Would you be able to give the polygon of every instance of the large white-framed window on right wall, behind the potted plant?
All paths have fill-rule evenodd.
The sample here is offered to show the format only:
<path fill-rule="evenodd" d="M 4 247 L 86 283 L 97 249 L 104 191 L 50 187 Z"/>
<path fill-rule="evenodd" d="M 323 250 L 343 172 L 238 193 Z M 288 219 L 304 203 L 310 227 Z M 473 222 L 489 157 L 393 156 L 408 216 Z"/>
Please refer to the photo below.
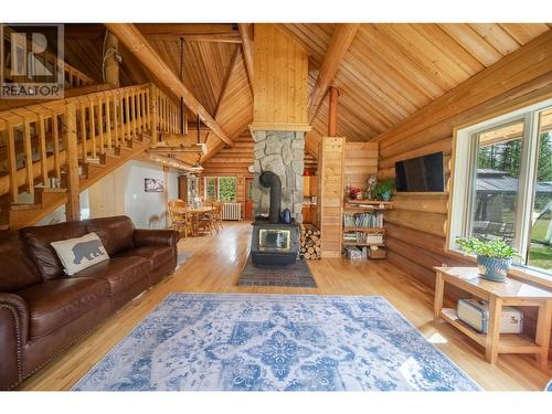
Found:
<path fill-rule="evenodd" d="M 460 129 L 453 179 L 449 248 L 501 238 L 552 274 L 552 100 Z"/>

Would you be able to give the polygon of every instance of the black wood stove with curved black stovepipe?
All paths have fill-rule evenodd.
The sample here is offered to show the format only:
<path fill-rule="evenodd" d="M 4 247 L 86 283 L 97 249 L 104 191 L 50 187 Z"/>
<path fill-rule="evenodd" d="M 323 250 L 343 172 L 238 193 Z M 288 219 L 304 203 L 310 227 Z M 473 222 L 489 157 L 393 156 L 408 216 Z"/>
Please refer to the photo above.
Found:
<path fill-rule="evenodd" d="M 280 219 L 282 182 L 272 171 L 259 177 L 263 187 L 270 189 L 267 219 L 257 216 L 253 223 L 251 256 L 255 266 L 288 266 L 299 254 L 299 224 L 283 223 Z"/>

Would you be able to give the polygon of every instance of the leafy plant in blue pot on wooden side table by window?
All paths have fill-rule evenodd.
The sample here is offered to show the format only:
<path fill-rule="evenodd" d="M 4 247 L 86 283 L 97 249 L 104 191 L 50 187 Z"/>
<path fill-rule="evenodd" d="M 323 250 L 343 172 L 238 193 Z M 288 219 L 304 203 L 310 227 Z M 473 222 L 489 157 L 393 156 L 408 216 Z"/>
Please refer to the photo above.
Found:
<path fill-rule="evenodd" d="M 459 238 L 456 244 L 466 254 L 477 255 L 477 267 L 481 277 L 492 282 L 506 282 L 516 250 L 503 240 L 480 241 L 475 237 Z"/>

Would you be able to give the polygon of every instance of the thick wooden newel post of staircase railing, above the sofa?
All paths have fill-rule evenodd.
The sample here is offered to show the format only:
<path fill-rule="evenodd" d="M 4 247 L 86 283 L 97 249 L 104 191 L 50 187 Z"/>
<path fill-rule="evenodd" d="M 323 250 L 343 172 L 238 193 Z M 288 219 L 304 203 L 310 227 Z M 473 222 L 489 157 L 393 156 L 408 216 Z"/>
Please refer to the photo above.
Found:
<path fill-rule="evenodd" d="M 65 163 L 67 171 L 67 204 L 65 215 L 68 220 L 79 220 L 79 187 L 78 187 L 78 145 L 76 141 L 76 108 L 74 104 L 65 107 L 63 148 L 65 149 Z"/>

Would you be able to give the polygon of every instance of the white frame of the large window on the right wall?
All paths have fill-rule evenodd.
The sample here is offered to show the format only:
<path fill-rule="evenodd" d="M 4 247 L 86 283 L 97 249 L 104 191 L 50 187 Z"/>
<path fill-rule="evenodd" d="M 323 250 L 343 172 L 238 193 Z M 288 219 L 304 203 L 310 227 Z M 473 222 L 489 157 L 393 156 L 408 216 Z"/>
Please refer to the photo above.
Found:
<path fill-rule="evenodd" d="M 508 114 L 459 128 L 455 131 L 453 142 L 452 193 L 449 208 L 449 227 L 446 248 L 459 253 L 456 245 L 458 237 L 466 237 L 473 231 L 475 208 L 474 188 L 477 179 L 478 136 L 510 124 L 523 121 L 519 192 L 517 195 L 514 247 L 526 257 L 531 238 L 531 214 L 535 197 L 537 167 L 539 157 L 540 115 L 552 107 L 552 99 L 516 109 Z M 552 272 L 524 263 L 514 263 L 514 268 L 537 274 L 552 280 Z"/>

